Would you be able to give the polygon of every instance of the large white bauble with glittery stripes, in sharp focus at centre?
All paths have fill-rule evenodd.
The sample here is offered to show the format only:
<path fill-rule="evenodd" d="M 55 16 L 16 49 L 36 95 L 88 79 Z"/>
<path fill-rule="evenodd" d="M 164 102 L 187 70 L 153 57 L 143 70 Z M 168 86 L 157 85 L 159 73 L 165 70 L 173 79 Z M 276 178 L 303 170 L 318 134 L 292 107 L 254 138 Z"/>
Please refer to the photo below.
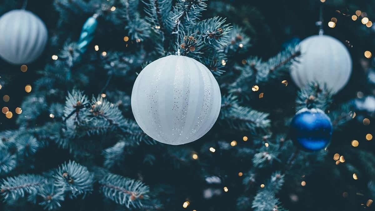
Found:
<path fill-rule="evenodd" d="M 170 55 L 147 65 L 135 80 L 132 110 L 158 142 L 180 145 L 206 134 L 219 116 L 219 84 L 202 63 Z"/>

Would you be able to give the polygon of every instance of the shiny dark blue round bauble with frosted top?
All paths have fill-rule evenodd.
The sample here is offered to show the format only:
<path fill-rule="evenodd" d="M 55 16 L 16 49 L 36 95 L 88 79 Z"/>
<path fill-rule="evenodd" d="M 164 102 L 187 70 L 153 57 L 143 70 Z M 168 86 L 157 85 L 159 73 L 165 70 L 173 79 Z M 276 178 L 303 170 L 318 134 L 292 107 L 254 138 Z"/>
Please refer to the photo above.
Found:
<path fill-rule="evenodd" d="M 332 137 L 331 120 L 320 109 L 301 109 L 290 123 L 290 137 L 305 151 L 324 149 Z"/>

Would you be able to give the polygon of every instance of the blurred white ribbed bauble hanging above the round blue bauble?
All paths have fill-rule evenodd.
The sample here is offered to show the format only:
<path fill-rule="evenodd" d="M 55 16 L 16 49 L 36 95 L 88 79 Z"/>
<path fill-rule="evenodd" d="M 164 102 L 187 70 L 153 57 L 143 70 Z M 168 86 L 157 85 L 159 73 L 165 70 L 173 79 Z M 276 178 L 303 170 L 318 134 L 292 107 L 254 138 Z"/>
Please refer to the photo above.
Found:
<path fill-rule="evenodd" d="M 345 45 L 336 38 L 309 36 L 300 42 L 300 50 L 299 62 L 291 67 L 291 77 L 298 87 L 317 81 L 336 93 L 348 83 L 352 60 Z"/>

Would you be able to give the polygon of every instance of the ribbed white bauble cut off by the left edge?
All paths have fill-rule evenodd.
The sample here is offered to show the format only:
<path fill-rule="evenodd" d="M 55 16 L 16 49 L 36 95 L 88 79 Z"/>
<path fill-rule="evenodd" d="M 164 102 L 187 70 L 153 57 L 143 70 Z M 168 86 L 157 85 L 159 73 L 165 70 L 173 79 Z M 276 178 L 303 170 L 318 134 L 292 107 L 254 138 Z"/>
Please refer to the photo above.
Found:
<path fill-rule="evenodd" d="M 0 56 L 12 64 L 33 62 L 43 52 L 47 29 L 39 17 L 24 9 L 0 17 Z"/>

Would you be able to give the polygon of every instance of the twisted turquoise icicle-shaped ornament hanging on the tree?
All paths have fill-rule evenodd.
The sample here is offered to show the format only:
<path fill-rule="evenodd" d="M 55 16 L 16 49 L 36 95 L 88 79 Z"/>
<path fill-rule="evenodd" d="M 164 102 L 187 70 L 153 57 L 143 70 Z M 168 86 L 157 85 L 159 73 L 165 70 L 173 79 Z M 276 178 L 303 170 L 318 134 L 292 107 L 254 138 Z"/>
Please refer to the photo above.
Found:
<path fill-rule="evenodd" d="M 86 20 L 83 24 L 80 40 L 78 40 L 78 48 L 84 53 L 87 50 L 87 45 L 93 40 L 94 33 L 96 30 L 96 26 L 98 25 L 98 21 L 96 18 L 98 17 L 97 14 L 94 14 L 92 17 Z"/>

